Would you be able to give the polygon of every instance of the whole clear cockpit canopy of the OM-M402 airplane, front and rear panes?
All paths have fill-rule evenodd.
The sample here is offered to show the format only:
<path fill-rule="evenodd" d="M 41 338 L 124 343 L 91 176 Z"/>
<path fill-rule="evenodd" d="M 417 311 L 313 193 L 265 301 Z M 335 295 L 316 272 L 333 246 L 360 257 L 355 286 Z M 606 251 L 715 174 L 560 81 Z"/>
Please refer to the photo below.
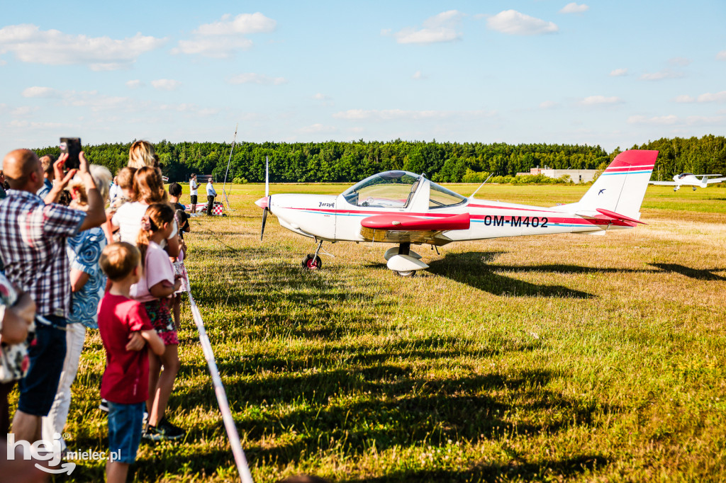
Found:
<path fill-rule="evenodd" d="M 425 182 L 423 176 L 408 171 L 386 171 L 378 173 L 343 191 L 343 197 L 351 205 L 359 207 L 405 208 L 417 189 Z M 449 189 L 431 183 L 429 208 L 460 205 L 465 197 Z"/>

